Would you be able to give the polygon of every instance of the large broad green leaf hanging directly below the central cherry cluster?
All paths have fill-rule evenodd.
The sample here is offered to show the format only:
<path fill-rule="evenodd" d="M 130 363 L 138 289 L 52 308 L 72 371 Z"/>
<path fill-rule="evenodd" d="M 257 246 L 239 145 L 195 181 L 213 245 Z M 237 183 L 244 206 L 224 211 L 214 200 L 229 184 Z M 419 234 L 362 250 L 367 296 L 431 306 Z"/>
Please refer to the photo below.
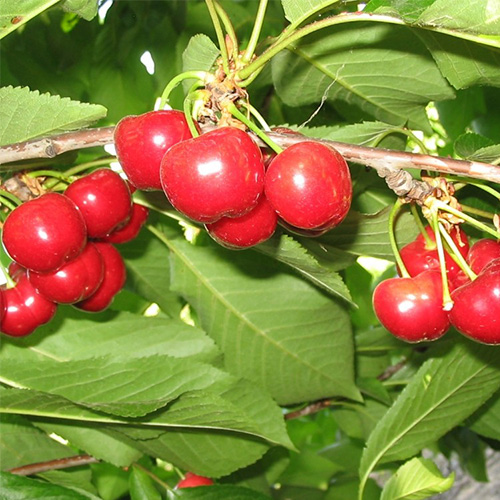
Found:
<path fill-rule="evenodd" d="M 359 397 L 350 327 L 339 305 L 253 252 L 165 242 L 172 288 L 196 309 L 229 372 L 266 388 L 281 404 Z"/>

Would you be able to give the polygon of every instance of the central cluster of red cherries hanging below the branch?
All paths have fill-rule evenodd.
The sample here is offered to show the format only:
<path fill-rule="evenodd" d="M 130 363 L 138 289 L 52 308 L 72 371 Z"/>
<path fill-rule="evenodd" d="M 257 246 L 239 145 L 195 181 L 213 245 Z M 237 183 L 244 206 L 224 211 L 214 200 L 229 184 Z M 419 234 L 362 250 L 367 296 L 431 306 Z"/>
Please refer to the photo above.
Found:
<path fill-rule="evenodd" d="M 247 133 L 222 127 L 193 138 L 184 114 L 175 110 L 126 117 L 114 140 L 135 187 L 162 189 L 174 208 L 229 248 L 265 241 L 278 222 L 322 234 L 350 208 L 347 163 L 324 144 L 295 144 L 265 165 Z"/>

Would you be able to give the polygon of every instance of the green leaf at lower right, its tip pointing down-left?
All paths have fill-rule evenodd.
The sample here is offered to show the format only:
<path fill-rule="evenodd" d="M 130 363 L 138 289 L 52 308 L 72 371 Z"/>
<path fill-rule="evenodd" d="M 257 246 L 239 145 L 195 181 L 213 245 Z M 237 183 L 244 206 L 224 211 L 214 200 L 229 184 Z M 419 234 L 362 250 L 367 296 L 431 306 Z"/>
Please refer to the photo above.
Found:
<path fill-rule="evenodd" d="M 500 387 L 500 360 L 491 347 L 460 339 L 437 354 L 422 365 L 370 435 L 360 466 L 362 484 L 377 464 L 411 457 Z"/>

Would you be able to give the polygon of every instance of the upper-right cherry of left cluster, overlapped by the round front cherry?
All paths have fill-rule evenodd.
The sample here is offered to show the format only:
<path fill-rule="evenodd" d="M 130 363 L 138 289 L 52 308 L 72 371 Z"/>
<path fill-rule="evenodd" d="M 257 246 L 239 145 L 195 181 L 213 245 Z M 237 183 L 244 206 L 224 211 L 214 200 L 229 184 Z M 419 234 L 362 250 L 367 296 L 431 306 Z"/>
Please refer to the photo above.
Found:
<path fill-rule="evenodd" d="M 89 238 L 107 236 L 124 225 L 131 214 L 127 183 L 109 168 L 100 168 L 74 181 L 64 194 L 80 209 Z"/>

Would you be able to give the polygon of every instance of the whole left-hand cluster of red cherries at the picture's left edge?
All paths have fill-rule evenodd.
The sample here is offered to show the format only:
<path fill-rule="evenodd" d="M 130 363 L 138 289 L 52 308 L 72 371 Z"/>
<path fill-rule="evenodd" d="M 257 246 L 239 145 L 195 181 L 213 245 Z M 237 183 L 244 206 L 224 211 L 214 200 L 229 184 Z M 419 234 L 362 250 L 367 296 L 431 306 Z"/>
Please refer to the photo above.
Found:
<path fill-rule="evenodd" d="M 126 278 L 114 244 L 135 238 L 147 216 L 108 168 L 80 177 L 64 194 L 47 192 L 14 209 L 2 232 L 13 283 L 0 287 L 0 331 L 28 335 L 58 304 L 106 309 Z"/>

